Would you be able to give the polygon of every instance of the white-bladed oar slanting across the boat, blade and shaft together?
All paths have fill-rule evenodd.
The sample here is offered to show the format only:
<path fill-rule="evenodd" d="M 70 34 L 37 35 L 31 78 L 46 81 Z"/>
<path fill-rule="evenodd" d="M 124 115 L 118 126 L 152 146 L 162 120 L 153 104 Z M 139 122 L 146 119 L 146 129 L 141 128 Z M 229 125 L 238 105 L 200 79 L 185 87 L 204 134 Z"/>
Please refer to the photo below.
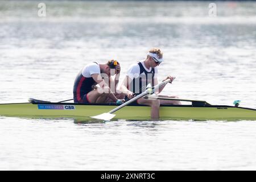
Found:
<path fill-rule="evenodd" d="M 146 89 L 144 92 L 142 92 L 138 96 L 136 96 L 136 97 L 132 98 L 131 100 L 123 103 L 122 105 L 119 105 L 118 107 L 115 107 L 115 109 L 110 110 L 108 113 L 103 113 L 103 114 L 95 115 L 95 116 L 93 116 L 91 118 L 101 119 L 101 120 L 104 120 L 104 121 L 109 121 L 110 119 L 115 117 L 115 114 L 112 114 L 115 111 L 117 111 L 119 109 L 122 109 L 122 107 L 125 107 L 126 105 L 130 104 L 131 102 L 136 101 L 139 98 L 146 96 L 147 94 L 153 94 L 156 89 L 158 89 L 160 86 L 168 84 L 168 82 L 171 82 L 171 80 L 167 79 L 167 80 L 161 82 L 160 84 L 158 84 L 158 85 L 156 85 L 156 86 L 154 86 L 152 88 Z"/>

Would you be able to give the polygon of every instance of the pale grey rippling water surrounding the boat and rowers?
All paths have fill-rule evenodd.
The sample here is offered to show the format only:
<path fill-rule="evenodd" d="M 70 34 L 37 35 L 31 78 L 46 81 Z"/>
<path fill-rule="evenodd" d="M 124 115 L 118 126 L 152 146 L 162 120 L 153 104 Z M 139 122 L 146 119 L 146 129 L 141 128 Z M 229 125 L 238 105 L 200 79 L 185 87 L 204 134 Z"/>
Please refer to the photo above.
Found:
<path fill-rule="evenodd" d="M 256 2 L 0 1 L 1 103 L 72 98 L 90 61 L 131 63 L 159 47 L 163 93 L 256 108 Z M 255 121 L 0 117 L 1 170 L 256 169 Z"/>

